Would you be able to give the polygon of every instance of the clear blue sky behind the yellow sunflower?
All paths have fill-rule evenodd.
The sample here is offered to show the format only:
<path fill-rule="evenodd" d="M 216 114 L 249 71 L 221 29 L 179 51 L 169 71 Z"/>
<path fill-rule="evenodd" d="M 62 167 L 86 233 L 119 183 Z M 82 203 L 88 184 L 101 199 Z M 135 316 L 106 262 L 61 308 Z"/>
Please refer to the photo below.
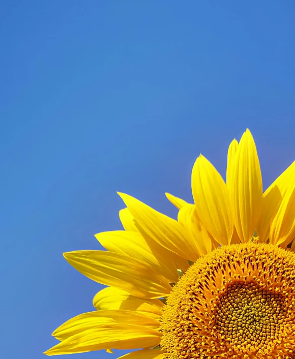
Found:
<path fill-rule="evenodd" d="M 247 127 L 264 189 L 295 159 L 295 3 L 27 0 L 0 17 L 0 356 L 40 359 L 93 310 L 102 286 L 62 253 L 122 228 L 116 191 L 175 217 L 164 192 L 192 200 L 200 152 L 224 176 Z"/>

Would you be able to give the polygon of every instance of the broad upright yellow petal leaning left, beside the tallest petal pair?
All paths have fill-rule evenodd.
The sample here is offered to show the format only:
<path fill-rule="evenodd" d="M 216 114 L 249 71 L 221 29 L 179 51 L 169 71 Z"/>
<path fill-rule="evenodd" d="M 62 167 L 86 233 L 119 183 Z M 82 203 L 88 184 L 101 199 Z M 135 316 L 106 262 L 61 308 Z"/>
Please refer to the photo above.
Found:
<path fill-rule="evenodd" d="M 221 245 L 230 243 L 233 222 L 228 189 L 214 166 L 199 156 L 192 170 L 192 192 L 197 214 Z"/>

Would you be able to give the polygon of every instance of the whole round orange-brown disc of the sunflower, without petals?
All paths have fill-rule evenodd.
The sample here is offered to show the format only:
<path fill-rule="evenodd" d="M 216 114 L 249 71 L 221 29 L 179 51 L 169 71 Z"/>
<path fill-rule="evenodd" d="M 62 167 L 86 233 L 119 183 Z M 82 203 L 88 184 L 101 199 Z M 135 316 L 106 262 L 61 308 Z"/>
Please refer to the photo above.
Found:
<path fill-rule="evenodd" d="M 192 265 L 163 310 L 167 359 L 295 358 L 295 254 L 224 246 Z"/>

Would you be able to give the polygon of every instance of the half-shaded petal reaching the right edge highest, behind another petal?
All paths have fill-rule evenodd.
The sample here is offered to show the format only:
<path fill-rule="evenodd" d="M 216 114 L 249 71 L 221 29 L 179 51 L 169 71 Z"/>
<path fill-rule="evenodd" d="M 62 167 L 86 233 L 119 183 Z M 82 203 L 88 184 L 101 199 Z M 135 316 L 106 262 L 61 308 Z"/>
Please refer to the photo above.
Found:
<path fill-rule="evenodd" d="M 295 161 L 263 193 L 261 213 L 257 223 L 259 242 L 263 243 L 268 240 L 271 221 L 278 212 L 286 191 L 294 183 L 294 178 Z"/>

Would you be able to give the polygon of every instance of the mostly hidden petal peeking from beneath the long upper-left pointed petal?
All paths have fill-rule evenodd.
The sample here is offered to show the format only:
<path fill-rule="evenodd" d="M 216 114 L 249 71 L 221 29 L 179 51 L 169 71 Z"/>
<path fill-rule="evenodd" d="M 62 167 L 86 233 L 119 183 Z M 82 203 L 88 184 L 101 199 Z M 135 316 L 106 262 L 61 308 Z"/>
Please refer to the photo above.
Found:
<path fill-rule="evenodd" d="M 141 235 L 146 238 L 146 241 L 148 243 L 151 243 L 151 241 L 153 243 L 155 243 L 156 241 L 149 235 L 147 235 L 147 233 L 145 233 L 144 229 L 140 227 L 140 225 L 135 221 L 134 217 L 132 216 L 132 214 L 130 213 L 130 211 L 128 210 L 128 208 L 124 208 L 124 210 L 120 211 L 120 219 L 121 222 L 123 224 L 123 227 L 125 228 L 125 230 L 131 230 L 131 231 L 137 231 L 139 233 L 141 233 Z M 158 243 L 158 242 L 156 242 Z M 163 256 L 165 256 L 165 258 L 169 258 L 169 261 L 172 261 L 175 265 L 175 267 L 177 269 L 186 271 L 189 267 L 188 265 L 188 261 L 182 257 L 180 257 L 178 254 L 171 252 L 169 249 L 161 246 L 159 243 L 158 245 L 161 247 L 161 253 Z M 154 245 L 155 246 L 155 245 Z M 172 268 L 172 267 L 171 267 Z"/>

